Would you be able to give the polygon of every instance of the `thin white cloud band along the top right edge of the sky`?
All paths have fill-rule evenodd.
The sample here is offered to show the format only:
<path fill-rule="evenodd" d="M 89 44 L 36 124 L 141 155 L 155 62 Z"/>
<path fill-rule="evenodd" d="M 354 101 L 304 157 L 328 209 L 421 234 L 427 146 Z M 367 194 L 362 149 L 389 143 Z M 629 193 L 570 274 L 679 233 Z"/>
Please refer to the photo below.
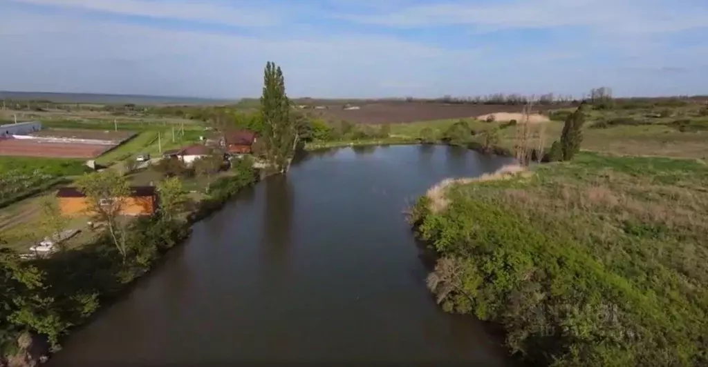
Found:
<path fill-rule="evenodd" d="M 457 1 L 403 6 L 392 11 L 340 14 L 359 23 L 392 27 L 470 25 L 480 30 L 587 26 L 595 30 L 669 32 L 705 27 L 708 7 L 677 0 Z"/>

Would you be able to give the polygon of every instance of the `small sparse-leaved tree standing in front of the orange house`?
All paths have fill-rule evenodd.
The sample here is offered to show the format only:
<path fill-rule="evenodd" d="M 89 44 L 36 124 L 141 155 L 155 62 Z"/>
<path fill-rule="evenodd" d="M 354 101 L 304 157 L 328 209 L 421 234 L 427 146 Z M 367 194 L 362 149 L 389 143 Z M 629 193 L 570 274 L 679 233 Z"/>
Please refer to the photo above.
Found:
<path fill-rule="evenodd" d="M 130 195 L 127 179 L 113 169 L 106 169 L 103 172 L 84 174 L 76 180 L 76 186 L 86 196 L 86 214 L 108 225 L 110 237 L 125 263 L 125 221 L 119 219 L 126 198 Z"/>

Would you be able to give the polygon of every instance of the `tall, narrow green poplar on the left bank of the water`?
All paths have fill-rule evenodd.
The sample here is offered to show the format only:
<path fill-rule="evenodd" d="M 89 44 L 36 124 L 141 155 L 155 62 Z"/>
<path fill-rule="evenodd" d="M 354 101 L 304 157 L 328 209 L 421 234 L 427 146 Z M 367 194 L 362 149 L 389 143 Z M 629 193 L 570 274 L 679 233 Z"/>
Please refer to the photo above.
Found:
<path fill-rule="evenodd" d="M 282 70 L 270 61 L 265 64 L 261 114 L 265 159 L 276 171 L 283 173 L 295 153 L 297 129 L 290 117 L 290 100 L 285 95 Z"/>

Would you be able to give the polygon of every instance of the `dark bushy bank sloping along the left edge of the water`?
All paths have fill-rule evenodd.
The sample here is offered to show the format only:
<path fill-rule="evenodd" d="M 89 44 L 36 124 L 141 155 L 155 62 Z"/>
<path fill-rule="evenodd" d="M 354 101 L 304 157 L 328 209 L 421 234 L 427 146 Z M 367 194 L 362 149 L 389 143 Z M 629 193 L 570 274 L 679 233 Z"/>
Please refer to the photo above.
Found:
<path fill-rule="evenodd" d="M 0 248 L 4 289 L 0 295 L 0 362 L 7 356 L 24 355 L 18 336 L 25 332 L 46 337 L 57 349 L 72 328 L 91 320 L 99 308 L 120 298 L 158 265 L 170 248 L 188 236 L 188 224 L 219 209 L 256 179 L 251 162 L 239 161 L 210 184 L 208 194 L 187 203 L 183 212 L 158 212 L 132 220 L 125 232 L 125 256 L 107 230 L 95 231 L 90 243 L 47 258 L 22 261 L 16 252 Z"/>

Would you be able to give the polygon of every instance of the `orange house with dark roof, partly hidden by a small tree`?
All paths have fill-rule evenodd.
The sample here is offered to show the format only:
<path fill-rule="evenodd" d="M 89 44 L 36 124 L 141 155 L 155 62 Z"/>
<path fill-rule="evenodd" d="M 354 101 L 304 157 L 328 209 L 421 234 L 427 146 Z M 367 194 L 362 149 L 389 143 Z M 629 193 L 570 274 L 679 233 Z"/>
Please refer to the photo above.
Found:
<path fill-rule="evenodd" d="M 116 198 L 105 198 L 103 202 L 108 205 Z M 67 217 L 86 215 L 89 202 L 86 195 L 75 187 L 62 187 L 57 191 L 59 210 Z M 121 198 L 123 201 L 120 215 L 153 215 L 157 210 L 157 191 L 154 186 L 131 186 L 130 195 Z"/>

